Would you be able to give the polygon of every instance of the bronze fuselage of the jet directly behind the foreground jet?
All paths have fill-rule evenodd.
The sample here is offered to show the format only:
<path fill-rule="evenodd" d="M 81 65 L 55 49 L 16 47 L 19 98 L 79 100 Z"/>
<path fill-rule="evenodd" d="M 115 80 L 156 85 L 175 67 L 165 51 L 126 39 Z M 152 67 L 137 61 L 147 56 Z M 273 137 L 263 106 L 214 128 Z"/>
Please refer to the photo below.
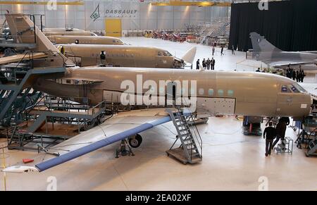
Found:
<path fill-rule="evenodd" d="M 97 66 L 101 62 L 114 67 L 183 68 L 184 66 L 180 59 L 163 49 L 154 47 L 62 44 L 58 49 L 81 67 Z M 104 61 L 100 58 L 101 51 L 105 52 Z"/>

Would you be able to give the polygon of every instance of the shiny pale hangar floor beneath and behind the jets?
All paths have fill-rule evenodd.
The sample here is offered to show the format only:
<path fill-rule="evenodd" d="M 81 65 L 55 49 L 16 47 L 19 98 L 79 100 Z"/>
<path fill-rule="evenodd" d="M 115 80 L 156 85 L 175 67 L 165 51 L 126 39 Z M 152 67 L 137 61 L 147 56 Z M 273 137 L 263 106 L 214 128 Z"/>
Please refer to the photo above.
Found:
<path fill-rule="evenodd" d="M 193 46 L 160 39 L 124 40 L 133 45 L 159 46 L 176 56 Z M 208 58 L 211 53 L 208 46 L 199 45 L 197 49 L 197 58 Z M 244 61 L 242 52 L 232 56 L 227 51 L 225 56 L 218 53 L 215 58 L 216 70 L 254 70 L 250 65 L 258 63 L 237 66 L 237 62 Z M 307 158 L 296 144 L 292 155 L 266 157 L 265 140 L 244 136 L 241 127 L 242 122 L 232 116 L 213 117 L 208 124 L 198 125 L 204 159 L 196 165 L 185 166 L 166 156 L 176 132 L 172 123 L 166 123 L 142 133 L 143 143 L 135 149 L 136 156 L 116 159 L 118 144 L 113 144 L 43 173 L 7 173 L 6 190 L 46 190 L 51 185 L 50 177 L 56 178 L 57 190 L 259 190 L 263 177 L 268 190 L 317 190 L 316 157 Z M 294 141 L 296 134 L 287 129 L 287 136 Z M 6 145 L 3 141 L 0 139 L 0 147 Z M 3 157 L 0 150 L 0 162 L 6 166 L 37 156 L 33 151 L 4 151 Z M 4 173 L 0 173 L 0 190 L 4 190 Z"/>

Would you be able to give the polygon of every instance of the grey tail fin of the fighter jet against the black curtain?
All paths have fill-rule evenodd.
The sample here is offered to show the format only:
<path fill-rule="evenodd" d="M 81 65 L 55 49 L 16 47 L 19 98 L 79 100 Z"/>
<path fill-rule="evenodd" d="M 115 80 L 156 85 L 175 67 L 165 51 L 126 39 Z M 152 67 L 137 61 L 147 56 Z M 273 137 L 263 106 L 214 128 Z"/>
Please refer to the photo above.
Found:
<path fill-rule="evenodd" d="M 281 51 L 277 47 L 273 46 L 273 44 L 268 42 L 263 36 L 259 35 L 256 32 L 251 32 L 250 38 L 252 42 L 253 51 Z"/>

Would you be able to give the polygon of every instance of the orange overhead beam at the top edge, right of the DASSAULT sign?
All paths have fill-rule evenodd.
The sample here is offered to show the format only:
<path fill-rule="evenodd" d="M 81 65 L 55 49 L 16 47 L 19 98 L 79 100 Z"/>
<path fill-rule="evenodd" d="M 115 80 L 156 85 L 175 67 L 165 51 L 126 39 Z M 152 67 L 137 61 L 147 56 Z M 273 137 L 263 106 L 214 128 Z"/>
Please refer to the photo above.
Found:
<path fill-rule="evenodd" d="M 152 6 L 231 6 L 231 2 L 217 1 L 169 1 L 153 2 Z"/>

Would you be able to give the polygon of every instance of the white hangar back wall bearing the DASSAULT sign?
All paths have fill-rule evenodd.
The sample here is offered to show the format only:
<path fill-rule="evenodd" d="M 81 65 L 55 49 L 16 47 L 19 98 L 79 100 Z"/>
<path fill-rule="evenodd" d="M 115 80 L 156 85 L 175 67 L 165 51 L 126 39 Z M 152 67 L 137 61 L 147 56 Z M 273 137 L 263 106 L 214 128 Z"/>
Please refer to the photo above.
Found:
<path fill-rule="evenodd" d="M 90 15 L 98 4 L 101 17 L 93 22 Z M 228 18 L 230 15 L 229 7 L 151 6 L 149 3 L 116 0 L 85 1 L 85 6 L 57 6 L 56 11 L 49 11 L 46 6 L 34 5 L 1 5 L 0 8 L 1 14 L 6 13 L 6 10 L 12 13 L 45 14 L 46 27 L 74 25 L 86 30 L 104 30 L 104 18 L 109 18 L 105 13 L 107 9 L 137 10 L 131 17 L 121 17 L 123 30 L 182 29 L 185 24 L 210 22 L 219 17 Z"/>

